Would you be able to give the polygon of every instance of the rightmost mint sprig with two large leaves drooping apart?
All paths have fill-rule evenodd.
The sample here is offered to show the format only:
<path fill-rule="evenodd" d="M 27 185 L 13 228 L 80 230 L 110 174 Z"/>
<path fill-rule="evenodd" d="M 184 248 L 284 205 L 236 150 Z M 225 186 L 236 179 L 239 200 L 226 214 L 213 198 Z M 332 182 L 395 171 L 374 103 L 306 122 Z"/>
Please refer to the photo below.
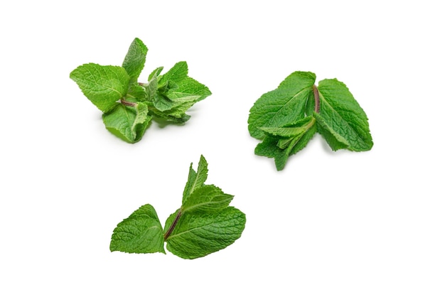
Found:
<path fill-rule="evenodd" d="M 317 87 L 315 80 L 312 72 L 293 72 L 250 109 L 250 135 L 262 140 L 255 154 L 274 158 L 279 171 L 316 132 L 333 151 L 372 148 L 368 117 L 348 87 L 336 79 L 321 80 Z"/>

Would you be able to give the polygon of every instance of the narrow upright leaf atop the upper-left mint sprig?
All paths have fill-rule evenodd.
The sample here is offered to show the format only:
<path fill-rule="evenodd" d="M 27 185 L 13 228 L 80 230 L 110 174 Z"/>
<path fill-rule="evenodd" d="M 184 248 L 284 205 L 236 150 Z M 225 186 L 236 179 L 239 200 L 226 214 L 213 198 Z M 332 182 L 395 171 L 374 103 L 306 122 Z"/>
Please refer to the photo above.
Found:
<path fill-rule="evenodd" d="M 136 81 L 144 69 L 146 54 L 149 49 L 139 38 L 134 38 L 134 41 L 130 45 L 127 55 L 124 58 L 122 67 L 127 70 L 129 77 Z"/>

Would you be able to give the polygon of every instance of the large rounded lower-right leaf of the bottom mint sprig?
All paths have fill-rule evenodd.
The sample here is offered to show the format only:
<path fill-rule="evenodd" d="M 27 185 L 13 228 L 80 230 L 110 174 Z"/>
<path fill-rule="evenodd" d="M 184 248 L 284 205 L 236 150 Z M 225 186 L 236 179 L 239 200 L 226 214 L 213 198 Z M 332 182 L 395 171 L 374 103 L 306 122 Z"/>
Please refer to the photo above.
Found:
<path fill-rule="evenodd" d="M 165 229 L 175 217 L 175 214 L 168 217 Z M 226 207 L 220 212 L 188 212 L 166 238 L 167 249 L 183 259 L 204 257 L 240 238 L 245 223 L 245 214 L 235 207 Z"/>

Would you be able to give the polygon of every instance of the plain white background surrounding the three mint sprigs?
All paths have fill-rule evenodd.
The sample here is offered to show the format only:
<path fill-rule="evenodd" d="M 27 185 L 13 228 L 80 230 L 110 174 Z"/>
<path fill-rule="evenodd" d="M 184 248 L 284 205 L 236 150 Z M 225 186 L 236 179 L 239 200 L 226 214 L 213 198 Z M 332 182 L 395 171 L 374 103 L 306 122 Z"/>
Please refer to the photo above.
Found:
<path fill-rule="evenodd" d="M 3 1 L 0 296 L 445 296 L 440 1 Z M 213 95 L 138 144 L 69 78 L 149 48 Z M 348 85 L 371 151 L 321 136 L 277 172 L 249 109 L 296 70 Z M 114 227 L 181 203 L 191 162 L 235 195 L 242 237 L 208 257 L 109 252 Z"/>

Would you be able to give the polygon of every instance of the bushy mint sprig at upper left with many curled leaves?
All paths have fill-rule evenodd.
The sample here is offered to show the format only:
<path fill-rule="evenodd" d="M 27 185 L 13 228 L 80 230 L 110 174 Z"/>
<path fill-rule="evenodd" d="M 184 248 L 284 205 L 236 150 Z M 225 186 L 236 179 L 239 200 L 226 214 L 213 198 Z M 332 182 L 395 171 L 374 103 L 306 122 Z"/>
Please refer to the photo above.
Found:
<path fill-rule="evenodd" d="M 148 48 L 135 38 L 122 67 L 95 63 L 80 65 L 70 73 L 85 97 L 100 109 L 106 128 L 129 143 L 141 140 L 153 117 L 183 123 L 186 111 L 211 95 L 205 85 L 188 77 L 188 65 L 179 62 L 161 75 L 162 67 L 138 82 Z"/>

